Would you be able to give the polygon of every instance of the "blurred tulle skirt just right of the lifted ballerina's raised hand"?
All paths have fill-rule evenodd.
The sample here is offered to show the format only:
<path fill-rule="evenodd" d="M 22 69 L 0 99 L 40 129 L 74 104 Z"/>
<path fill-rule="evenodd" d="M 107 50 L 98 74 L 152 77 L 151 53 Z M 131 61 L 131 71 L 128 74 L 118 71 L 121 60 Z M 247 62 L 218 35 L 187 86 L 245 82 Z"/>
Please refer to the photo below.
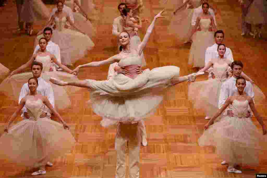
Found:
<path fill-rule="evenodd" d="M 175 34 L 175 37 L 180 42 L 189 41 L 193 13 L 194 9 L 183 9 L 178 11 L 171 19 L 169 31 L 171 34 Z"/>

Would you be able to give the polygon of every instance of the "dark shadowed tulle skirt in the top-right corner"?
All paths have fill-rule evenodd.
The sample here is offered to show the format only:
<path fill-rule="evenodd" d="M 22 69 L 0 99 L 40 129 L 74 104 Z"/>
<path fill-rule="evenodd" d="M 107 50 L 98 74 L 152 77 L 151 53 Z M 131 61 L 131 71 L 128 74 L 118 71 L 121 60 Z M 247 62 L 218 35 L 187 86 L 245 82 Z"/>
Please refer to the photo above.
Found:
<path fill-rule="evenodd" d="M 245 22 L 253 25 L 267 23 L 267 1 L 254 0 L 249 6 Z"/>

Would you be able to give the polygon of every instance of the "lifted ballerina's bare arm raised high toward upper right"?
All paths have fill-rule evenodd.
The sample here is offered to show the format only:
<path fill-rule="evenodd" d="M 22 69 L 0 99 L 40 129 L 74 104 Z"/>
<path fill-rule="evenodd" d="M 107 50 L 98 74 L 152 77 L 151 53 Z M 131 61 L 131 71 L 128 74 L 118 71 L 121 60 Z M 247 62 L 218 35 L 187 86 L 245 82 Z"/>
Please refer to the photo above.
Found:
<path fill-rule="evenodd" d="M 150 26 L 148 27 L 148 29 L 147 29 L 147 33 L 146 33 L 146 35 L 144 36 L 143 41 L 140 43 L 140 45 L 139 45 L 138 48 L 137 48 L 137 52 L 138 52 L 139 56 L 141 56 L 141 54 L 142 54 L 144 48 L 145 48 L 146 45 L 147 45 L 147 42 L 148 42 L 148 40 L 149 40 L 149 38 L 150 38 L 150 35 L 151 35 L 151 33 L 152 33 L 153 29 L 154 29 L 156 19 L 157 19 L 157 18 L 164 17 L 164 16 L 161 15 L 164 11 L 165 11 L 165 9 L 163 9 L 162 11 L 160 11 L 160 13 L 158 13 L 158 14 L 154 17 L 153 21 L 151 22 Z"/>

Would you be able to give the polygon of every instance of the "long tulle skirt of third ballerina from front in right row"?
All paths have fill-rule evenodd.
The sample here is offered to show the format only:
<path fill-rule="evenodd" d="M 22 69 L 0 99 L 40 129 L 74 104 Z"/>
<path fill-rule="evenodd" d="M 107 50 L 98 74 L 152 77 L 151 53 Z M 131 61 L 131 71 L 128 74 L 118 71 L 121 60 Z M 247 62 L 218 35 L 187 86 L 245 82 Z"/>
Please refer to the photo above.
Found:
<path fill-rule="evenodd" d="M 192 41 L 188 64 L 194 64 L 193 67 L 202 68 L 205 66 L 205 52 L 207 47 L 215 43 L 214 32 L 196 31 L 192 36 Z"/>

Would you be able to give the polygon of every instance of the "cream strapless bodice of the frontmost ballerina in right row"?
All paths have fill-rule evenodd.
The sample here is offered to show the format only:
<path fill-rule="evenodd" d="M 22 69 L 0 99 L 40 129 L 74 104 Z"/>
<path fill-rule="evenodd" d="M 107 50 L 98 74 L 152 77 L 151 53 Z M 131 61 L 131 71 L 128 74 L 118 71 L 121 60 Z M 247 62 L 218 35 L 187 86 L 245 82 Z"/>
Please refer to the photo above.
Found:
<path fill-rule="evenodd" d="M 248 113 L 248 107 L 249 107 L 248 100 L 246 101 L 234 100 L 232 103 L 234 116 L 239 117 L 239 118 L 245 118 L 245 116 Z"/>

